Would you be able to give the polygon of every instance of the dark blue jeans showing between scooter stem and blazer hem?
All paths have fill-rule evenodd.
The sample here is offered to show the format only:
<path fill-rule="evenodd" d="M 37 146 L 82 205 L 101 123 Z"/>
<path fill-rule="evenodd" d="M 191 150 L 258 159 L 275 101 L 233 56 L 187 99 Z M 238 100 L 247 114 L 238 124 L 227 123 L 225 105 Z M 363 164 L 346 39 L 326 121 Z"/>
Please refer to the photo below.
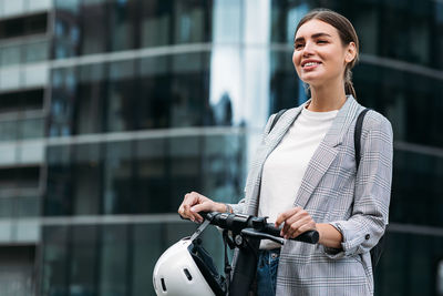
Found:
<path fill-rule="evenodd" d="M 260 249 L 257 264 L 257 296 L 276 295 L 277 268 L 280 249 Z"/>

